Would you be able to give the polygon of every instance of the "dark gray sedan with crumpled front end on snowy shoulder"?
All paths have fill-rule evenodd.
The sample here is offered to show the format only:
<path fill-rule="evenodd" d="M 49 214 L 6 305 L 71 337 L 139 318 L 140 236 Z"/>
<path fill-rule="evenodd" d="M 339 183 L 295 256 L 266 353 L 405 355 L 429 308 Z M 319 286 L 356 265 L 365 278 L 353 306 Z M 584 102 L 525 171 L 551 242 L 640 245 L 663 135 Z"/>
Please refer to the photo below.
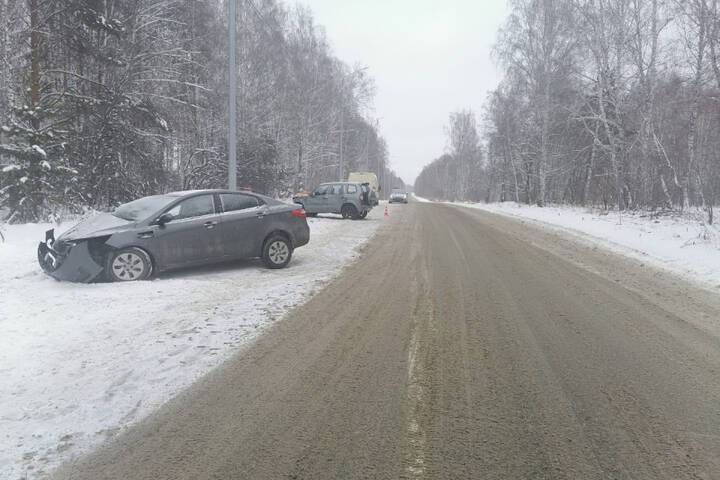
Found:
<path fill-rule="evenodd" d="M 176 268 L 262 258 L 283 268 L 310 241 L 298 205 L 249 192 L 200 190 L 144 197 L 95 215 L 38 247 L 58 280 L 144 280 Z"/>

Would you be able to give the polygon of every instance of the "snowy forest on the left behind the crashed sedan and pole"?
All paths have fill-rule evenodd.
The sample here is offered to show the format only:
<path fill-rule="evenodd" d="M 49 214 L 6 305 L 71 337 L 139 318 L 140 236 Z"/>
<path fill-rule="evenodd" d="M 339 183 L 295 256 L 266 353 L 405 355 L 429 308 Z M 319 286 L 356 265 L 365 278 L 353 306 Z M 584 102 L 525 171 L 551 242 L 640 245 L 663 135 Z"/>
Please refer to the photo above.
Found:
<path fill-rule="evenodd" d="M 367 68 L 304 7 L 237 9 L 238 186 L 402 184 Z M 227 187 L 227 29 L 225 1 L 0 0 L 0 221 Z"/>

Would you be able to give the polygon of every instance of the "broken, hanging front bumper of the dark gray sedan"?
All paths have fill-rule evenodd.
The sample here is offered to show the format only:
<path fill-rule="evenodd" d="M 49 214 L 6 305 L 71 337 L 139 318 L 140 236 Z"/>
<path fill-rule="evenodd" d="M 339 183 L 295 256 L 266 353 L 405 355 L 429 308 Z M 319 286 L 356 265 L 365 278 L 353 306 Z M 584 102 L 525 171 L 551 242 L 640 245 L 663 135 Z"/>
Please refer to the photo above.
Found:
<path fill-rule="evenodd" d="M 48 230 L 38 245 L 38 262 L 45 273 L 68 282 L 89 283 L 104 270 L 90 254 L 87 240 L 55 241 L 55 230 Z"/>

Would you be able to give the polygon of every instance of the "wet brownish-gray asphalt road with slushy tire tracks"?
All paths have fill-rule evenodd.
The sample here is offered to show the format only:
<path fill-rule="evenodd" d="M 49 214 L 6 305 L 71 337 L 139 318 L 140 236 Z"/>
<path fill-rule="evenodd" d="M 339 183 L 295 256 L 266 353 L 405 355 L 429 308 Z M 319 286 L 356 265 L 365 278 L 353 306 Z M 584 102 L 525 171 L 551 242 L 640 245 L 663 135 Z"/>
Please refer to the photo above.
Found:
<path fill-rule="evenodd" d="M 718 479 L 718 298 L 518 221 L 392 206 L 336 281 L 56 478 Z"/>

